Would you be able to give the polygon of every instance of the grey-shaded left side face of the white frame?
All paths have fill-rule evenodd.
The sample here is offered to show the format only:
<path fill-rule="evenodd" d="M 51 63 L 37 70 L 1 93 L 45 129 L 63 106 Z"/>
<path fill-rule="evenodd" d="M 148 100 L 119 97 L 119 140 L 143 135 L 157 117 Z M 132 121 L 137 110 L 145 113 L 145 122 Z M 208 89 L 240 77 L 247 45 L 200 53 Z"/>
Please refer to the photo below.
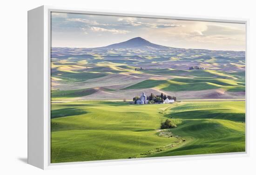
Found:
<path fill-rule="evenodd" d="M 44 8 L 28 11 L 27 162 L 44 168 Z"/>

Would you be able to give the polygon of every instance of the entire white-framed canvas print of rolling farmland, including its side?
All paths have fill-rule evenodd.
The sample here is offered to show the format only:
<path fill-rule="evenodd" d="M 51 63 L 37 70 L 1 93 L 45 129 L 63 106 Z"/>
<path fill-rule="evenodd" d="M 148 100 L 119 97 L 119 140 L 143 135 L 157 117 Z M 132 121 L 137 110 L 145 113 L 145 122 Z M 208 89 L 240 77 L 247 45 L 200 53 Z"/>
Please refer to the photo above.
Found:
<path fill-rule="evenodd" d="M 28 12 L 28 163 L 247 154 L 247 20 Z"/>

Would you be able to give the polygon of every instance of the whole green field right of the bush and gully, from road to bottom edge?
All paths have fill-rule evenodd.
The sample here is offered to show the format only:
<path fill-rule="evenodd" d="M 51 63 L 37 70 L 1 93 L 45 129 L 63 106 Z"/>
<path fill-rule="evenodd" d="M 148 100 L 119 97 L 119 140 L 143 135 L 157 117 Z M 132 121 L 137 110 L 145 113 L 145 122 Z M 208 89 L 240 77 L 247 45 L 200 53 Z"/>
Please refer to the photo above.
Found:
<path fill-rule="evenodd" d="M 218 112 L 213 113 L 214 110 Z M 153 156 L 245 151 L 245 123 L 235 122 L 245 121 L 244 112 L 244 102 L 182 103 L 167 113 L 173 118 L 182 118 L 182 123 L 172 132 L 190 142 Z"/>

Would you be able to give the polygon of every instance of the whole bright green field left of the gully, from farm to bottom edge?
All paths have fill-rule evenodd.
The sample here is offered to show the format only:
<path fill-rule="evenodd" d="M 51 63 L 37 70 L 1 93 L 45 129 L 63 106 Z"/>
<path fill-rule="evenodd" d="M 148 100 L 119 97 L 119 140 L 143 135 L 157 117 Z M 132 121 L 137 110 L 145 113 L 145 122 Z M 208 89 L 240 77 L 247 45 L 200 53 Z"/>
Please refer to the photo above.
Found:
<path fill-rule="evenodd" d="M 155 135 L 165 118 L 158 105 L 95 101 L 52 105 L 53 111 L 74 107 L 79 109 L 74 116 L 52 119 L 52 162 L 137 157 L 176 140 Z"/>

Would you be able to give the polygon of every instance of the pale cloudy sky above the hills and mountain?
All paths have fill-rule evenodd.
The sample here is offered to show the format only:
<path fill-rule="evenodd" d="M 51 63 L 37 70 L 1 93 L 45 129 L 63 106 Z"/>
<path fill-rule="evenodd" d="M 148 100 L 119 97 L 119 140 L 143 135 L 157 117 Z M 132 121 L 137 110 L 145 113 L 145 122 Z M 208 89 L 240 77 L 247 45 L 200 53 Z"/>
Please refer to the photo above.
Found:
<path fill-rule="evenodd" d="M 81 13 L 51 14 L 52 47 L 101 47 L 141 37 L 187 49 L 245 51 L 245 24 Z"/>

